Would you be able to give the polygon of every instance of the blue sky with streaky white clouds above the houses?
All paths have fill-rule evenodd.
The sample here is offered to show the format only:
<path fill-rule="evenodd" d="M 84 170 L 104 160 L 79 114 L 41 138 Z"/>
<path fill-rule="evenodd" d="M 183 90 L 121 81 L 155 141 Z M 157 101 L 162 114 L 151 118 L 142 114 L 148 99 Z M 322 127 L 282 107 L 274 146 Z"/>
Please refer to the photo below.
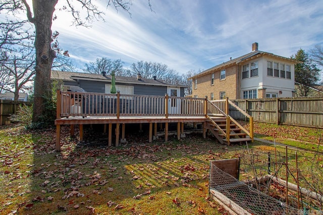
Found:
<path fill-rule="evenodd" d="M 91 28 L 71 26 L 71 17 L 57 10 L 52 30 L 60 32 L 60 45 L 79 70 L 107 57 L 121 59 L 125 67 L 139 60 L 165 63 L 184 74 L 251 52 L 253 42 L 261 51 L 285 57 L 299 48 L 307 51 L 323 44 L 321 0 L 150 0 L 150 4 L 153 12 L 148 1 L 133 1 L 131 17 L 104 6 L 105 22 L 94 21 Z"/>

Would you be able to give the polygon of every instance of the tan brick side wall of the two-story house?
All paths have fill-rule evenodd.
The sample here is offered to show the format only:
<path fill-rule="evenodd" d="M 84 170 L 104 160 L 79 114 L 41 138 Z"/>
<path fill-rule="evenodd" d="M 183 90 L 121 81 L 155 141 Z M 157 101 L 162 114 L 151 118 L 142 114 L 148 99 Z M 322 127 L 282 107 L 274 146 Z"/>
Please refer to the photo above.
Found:
<path fill-rule="evenodd" d="M 210 71 L 210 73 L 197 78 L 197 89 L 195 89 L 193 80 L 192 95 L 197 95 L 198 98 L 207 96 L 211 99 L 211 93 L 214 94 L 214 99 L 220 99 L 220 92 L 226 92 L 226 97 L 230 99 L 239 99 L 237 92 L 237 66 L 233 65 L 226 67 L 226 79 L 220 81 L 220 73 L 222 69 Z M 211 85 L 211 74 L 214 73 L 214 84 Z"/>

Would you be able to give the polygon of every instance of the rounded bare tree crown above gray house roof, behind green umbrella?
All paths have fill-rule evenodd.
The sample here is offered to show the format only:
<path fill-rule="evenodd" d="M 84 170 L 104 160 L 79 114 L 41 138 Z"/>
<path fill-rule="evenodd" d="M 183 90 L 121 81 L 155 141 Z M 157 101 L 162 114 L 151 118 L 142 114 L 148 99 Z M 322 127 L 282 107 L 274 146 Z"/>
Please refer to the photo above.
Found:
<path fill-rule="evenodd" d="M 83 69 L 85 73 L 91 74 L 111 74 L 112 71 L 115 72 L 116 76 L 123 76 L 123 62 L 121 59 L 112 60 L 106 57 L 97 58 L 95 62 L 90 62 L 89 64 L 85 63 L 85 68 Z"/>

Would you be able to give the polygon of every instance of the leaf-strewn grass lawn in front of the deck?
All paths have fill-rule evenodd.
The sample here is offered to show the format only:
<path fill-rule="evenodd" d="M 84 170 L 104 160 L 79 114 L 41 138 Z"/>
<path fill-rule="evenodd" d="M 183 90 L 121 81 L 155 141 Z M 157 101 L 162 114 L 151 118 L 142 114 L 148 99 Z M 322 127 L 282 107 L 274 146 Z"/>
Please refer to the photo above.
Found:
<path fill-rule="evenodd" d="M 313 136 L 306 132 L 306 141 L 316 146 L 315 131 Z M 127 144 L 108 148 L 78 144 L 63 127 L 64 145 L 58 153 L 55 135 L 55 129 L 30 132 L 17 125 L 0 127 L 1 214 L 226 214 L 208 198 L 209 162 L 240 157 L 240 179 L 253 177 L 245 145 L 227 147 L 211 136 L 192 134 L 149 144 L 147 135 L 132 134 Z M 255 141 L 248 147 L 257 172 L 266 174 L 266 156 L 270 152 L 274 159 L 274 146 Z M 277 148 L 279 160 L 284 151 Z M 294 155 L 289 151 L 292 172 Z M 308 167 L 314 161 L 323 165 L 322 158 L 299 152 L 299 169 L 311 178 Z M 315 184 L 321 188 L 322 178 Z"/>

